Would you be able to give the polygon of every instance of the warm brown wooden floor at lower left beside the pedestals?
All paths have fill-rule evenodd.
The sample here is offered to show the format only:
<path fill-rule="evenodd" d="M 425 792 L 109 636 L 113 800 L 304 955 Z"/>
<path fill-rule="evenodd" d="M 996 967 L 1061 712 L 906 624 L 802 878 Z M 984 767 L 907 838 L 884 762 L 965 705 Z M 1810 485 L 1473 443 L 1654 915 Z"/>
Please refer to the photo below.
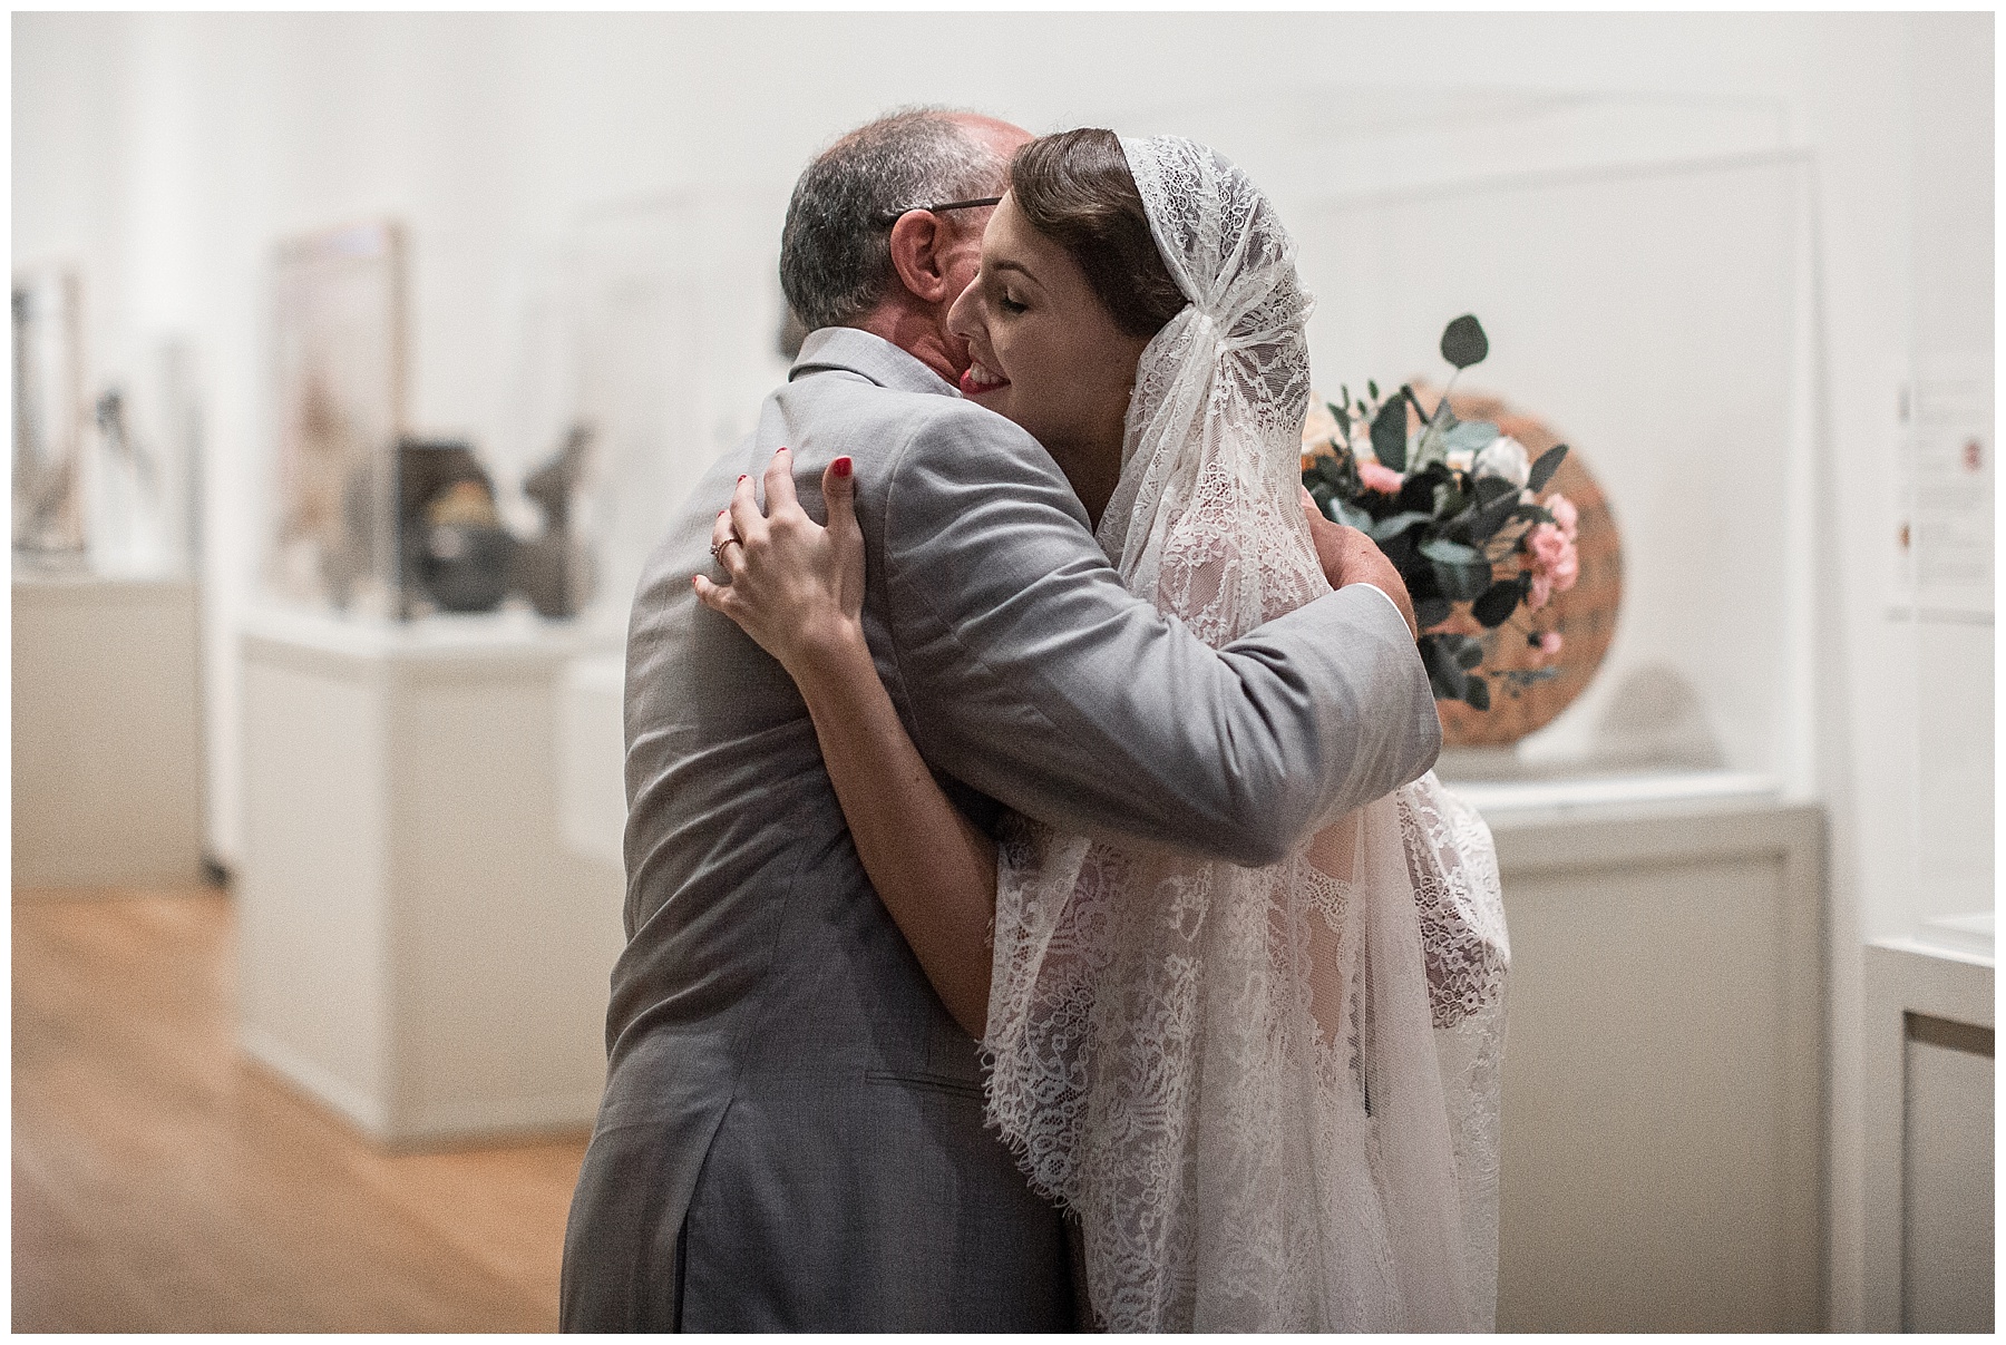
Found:
<path fill-rule="evenodd" d="M 233 1042 L 221 892 L 14 894 L 16 1331 L 550 1331 L 584 1137 L 383 1155 Z"/>

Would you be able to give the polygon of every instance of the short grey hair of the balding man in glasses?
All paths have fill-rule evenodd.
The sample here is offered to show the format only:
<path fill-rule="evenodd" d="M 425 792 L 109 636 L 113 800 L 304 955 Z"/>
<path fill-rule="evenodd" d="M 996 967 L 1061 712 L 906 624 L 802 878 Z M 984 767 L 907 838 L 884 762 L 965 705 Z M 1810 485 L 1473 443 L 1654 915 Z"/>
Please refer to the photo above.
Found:
<path fill-rule="evenodd" d="M 847 327 L 891 291 L 893 210 L 993 196 L 1009 164 L 943 108 L 859 126 L 794 182 L 780 231 L 780 291 L 802 327 Z"/>

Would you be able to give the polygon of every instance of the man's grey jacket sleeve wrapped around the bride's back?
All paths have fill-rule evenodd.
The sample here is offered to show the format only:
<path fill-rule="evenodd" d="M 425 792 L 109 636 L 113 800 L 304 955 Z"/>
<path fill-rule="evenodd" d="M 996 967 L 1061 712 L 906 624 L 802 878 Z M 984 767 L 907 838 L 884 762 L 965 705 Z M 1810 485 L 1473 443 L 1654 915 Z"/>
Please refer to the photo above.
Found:
<path fill-rule="evenodd" d="M 941 399 L 895 457 L 873 559 L 915 738 L 1019 812 L 1272 864 L 1416 780 L 1440 724 L 1380 593 L 1212 649 L 1129 593 L 1043 447 Z"/>

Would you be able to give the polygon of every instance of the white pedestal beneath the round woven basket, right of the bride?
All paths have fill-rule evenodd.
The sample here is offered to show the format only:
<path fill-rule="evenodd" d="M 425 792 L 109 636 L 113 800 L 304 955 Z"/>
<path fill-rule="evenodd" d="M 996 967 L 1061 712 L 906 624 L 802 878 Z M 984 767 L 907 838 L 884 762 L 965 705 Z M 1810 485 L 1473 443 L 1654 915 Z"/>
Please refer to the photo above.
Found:
<path fill-rule="evenodd" d="M 1725 772 L 1450 788 L 1511 924 L 1498 1329 L 1819 1329 L 1817 812 Z"/>

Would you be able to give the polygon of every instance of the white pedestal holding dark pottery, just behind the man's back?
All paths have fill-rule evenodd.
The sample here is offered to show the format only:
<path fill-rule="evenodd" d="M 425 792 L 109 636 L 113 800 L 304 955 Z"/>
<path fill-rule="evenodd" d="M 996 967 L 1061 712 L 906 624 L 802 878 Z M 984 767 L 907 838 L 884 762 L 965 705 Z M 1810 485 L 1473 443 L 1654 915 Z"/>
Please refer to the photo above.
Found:
<path fill-rule="evenodd" d="M 243 1044 L 383 1143 L 590 1125 L 622 874 L 566 848 L 534 617 L 243 633 Z"/>

